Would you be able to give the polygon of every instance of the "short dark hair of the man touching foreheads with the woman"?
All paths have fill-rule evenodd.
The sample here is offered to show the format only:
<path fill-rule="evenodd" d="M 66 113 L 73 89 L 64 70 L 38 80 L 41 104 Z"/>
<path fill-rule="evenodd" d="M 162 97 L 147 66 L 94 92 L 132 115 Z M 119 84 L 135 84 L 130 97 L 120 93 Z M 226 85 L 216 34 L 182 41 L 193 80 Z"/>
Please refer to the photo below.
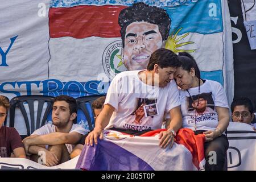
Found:
<path fill-rule="evenodd" d="M 147 70 L 152 71 L 155 64 L 159 65 L 160 68 L 176 68 L 180 66 L 177 55 L 169 49 L 165 48 L 157 49 L 155 52 L 152 53 L 147 65 Z"/>

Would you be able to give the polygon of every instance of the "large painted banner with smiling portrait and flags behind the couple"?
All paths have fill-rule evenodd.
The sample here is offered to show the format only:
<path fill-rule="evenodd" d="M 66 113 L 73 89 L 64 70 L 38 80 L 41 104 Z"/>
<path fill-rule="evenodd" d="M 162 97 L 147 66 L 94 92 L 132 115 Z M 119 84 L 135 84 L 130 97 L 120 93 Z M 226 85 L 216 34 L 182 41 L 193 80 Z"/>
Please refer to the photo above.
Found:
<path fill-rule="evenodd" d="M 228 3 L 144 0 L 132 6 L 134 2 L 139 1 L 2 2 L 0 94 L 11 99 L 106 93 L 117 73 L 146 68 L 151 53 L 165 47 L 190 52 L 203 78 L 220 82 L 230 103 L 234 78 Z"/>

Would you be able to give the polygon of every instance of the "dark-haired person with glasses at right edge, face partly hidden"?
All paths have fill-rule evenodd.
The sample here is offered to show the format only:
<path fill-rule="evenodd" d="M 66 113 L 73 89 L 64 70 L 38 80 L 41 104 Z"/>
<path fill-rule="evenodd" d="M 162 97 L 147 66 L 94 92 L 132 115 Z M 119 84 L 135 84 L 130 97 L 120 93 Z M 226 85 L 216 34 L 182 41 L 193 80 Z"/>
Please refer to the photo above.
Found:
<path fill-rule="evenodd" d="M 254 118 L 253 103 L 249 98 L 237 98 L 231 104 L 232 119 L 234 122 L 241 122 L 251 125 L 256 131 L 256 123 L 251 123 Z"/>

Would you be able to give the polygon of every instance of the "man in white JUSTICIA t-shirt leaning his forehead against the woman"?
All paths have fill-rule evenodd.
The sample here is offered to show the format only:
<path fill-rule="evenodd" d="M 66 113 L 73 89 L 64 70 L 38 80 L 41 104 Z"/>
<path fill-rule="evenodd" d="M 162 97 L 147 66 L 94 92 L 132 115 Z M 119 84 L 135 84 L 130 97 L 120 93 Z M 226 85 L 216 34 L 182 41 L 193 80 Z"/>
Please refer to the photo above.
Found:
<path fill-rule="evenodd" d="M 97 137 L 103 138 L 104 129 L 129 134 L 161 129 L 166 111 L 172 119 L 168 130 L 159 134 L 159 145 L 166 148 L 171 143 L 171 147 L 174 135 L 182 125 L 179 90 L 173 80 L 178 66 L 177 55 L 162 48 L 152 53 L 147 69 L 115 76 L 96 126 L 85 143 L 91 146 L 93 142 L 97 144 Z M 156 108 L 155 114 L 147 113 L 149 106 Z"/>

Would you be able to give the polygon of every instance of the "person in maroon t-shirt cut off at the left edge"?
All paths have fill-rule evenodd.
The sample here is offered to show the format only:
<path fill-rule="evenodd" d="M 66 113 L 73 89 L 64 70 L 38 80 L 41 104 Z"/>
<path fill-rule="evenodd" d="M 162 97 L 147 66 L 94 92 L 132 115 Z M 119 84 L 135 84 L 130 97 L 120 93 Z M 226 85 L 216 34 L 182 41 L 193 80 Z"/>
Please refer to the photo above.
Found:
<path fill-rule="evenodd" d="M 0 157 L 26 158 L 18 131 L 14 127 L 2 126 L 9 107 L 9 99 L 5 96 L 0 96 Z"/>

